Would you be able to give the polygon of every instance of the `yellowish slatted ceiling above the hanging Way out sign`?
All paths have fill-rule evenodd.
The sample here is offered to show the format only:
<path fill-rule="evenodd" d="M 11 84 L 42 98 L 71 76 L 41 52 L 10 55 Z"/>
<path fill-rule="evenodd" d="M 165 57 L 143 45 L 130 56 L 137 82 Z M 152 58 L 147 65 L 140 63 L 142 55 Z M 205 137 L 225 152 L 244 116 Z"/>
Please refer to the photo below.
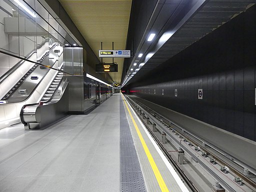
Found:
<path fill-rule="evenodd" d="M 98 50 L 125 49 L 132 0 L 59 0 L 89 46 L 98 57 Z M 99 57 L 98 57 L 99 58 Z M 99 58 L 101 61 L 101 58 Z M 112 58 L 103 58 L 112 62 Z M 114 58 L 118 72 L 109 72 L 120 83 L 123 58 Z"/>

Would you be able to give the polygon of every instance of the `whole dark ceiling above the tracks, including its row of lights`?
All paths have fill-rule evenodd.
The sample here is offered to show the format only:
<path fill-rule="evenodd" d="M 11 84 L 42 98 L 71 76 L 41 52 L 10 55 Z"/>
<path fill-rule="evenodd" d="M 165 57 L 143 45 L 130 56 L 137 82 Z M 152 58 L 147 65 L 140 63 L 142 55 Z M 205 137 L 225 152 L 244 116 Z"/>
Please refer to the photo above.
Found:
<path fill-rule="evenodd" d="M 201 37 L 255 4 L 255 0 L 159 0 L 145 31 L 156 33 L 146 42 L 140 40 L 137 51 L 123 76 L 123 85 L 137 82 Z M 165 14 L 163 10 L 171 10 Z M 160 21 L 162 24 L 160 24 Z M 142 57 L 138 57 L 143 53 Z M 136 62 L 136 66 L 133 63 Z"/>

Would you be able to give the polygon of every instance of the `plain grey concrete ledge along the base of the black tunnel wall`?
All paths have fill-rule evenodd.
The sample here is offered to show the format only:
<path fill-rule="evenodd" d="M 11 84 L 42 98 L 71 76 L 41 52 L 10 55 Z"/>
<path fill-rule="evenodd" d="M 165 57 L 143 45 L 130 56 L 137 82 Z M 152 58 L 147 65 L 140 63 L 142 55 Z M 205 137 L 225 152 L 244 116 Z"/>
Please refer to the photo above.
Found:
<path fill-rule="evenodd" d="M 227 151 L 251 167 L 256 168 L 256 142 L 224 131 L 215 126 L 206 124 L 202 121 L 180 114 L 134 95 L 129 96 L 150 107 L 165 118 L 172 120 L 181 127 L 184 127 L 190 132 L 195 133 L 201 138 L 207 140 L 209 143 L 222 148 L 224 151 Z"/>

